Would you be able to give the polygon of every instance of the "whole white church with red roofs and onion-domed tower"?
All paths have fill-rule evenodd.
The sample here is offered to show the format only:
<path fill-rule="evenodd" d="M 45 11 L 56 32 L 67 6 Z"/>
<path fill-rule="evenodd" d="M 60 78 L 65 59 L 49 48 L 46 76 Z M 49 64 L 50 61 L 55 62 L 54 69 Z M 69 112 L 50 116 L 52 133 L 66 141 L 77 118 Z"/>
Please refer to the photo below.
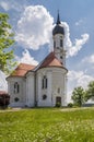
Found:
<path fill-rule="evenodd" d="M 7 78 L 11 107 L 67 106 L 64 28 L 59 13 L 52 39 L 54 51 L 37 67 L 20 63 Z"/>

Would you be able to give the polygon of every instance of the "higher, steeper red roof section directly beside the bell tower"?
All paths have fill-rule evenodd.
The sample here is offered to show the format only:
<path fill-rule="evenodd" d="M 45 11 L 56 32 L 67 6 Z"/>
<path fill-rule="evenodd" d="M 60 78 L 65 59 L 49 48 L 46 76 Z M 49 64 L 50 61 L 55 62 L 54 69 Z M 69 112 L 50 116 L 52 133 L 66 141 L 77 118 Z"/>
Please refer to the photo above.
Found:
<path fill-rule="evenodd" d="M 42 62 L 38 69 L 47 68 L 47 67 L 61 67 L 63 68 L 62 63 L 57 59 L 55 52 L 50 52 Z"/>

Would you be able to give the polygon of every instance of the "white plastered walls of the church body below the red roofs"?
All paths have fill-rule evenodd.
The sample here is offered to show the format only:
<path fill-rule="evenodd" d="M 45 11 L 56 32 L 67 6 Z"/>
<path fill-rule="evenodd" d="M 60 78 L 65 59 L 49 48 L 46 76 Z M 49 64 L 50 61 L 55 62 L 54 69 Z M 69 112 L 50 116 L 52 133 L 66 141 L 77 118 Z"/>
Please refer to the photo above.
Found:
<path fill-rule="evenodd" d="M 57 97 L 61 98 L 61 106 L 67 106 L 66 74 L 66 69 L 52 67 L 43 68 L 37 72 L 28 72 L 25 78 L 8 78 L 9 94 L 11 95 L 10 106 L 52 107 L 56 106 Z M 47 79 L 47 87 L 43 88 L 44 76 Z M 15 82 L 20 85 L 19 93 L 14 93 Z"/>

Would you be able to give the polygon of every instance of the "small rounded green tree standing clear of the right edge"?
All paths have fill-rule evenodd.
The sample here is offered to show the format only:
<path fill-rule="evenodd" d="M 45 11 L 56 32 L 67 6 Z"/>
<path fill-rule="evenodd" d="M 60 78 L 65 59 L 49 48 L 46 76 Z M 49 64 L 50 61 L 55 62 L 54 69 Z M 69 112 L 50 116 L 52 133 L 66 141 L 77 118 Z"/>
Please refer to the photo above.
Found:
<path fill-rule="evenodd" d="M 72 100 L 74 105 L 82 106 L 82 104 L 85 102 L 85 91 L 82 86 L 75 87 L 72 92 Z"/>

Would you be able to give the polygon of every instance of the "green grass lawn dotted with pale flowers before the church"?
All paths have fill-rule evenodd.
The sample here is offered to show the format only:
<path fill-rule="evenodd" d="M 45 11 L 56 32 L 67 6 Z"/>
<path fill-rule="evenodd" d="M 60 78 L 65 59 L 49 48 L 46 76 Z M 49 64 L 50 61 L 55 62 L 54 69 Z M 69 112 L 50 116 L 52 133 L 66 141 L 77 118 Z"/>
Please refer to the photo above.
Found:
<path fill-rule="evenodd" d="M 94 142 L 94 107 L 1 110 L 0 142 Z"/>

